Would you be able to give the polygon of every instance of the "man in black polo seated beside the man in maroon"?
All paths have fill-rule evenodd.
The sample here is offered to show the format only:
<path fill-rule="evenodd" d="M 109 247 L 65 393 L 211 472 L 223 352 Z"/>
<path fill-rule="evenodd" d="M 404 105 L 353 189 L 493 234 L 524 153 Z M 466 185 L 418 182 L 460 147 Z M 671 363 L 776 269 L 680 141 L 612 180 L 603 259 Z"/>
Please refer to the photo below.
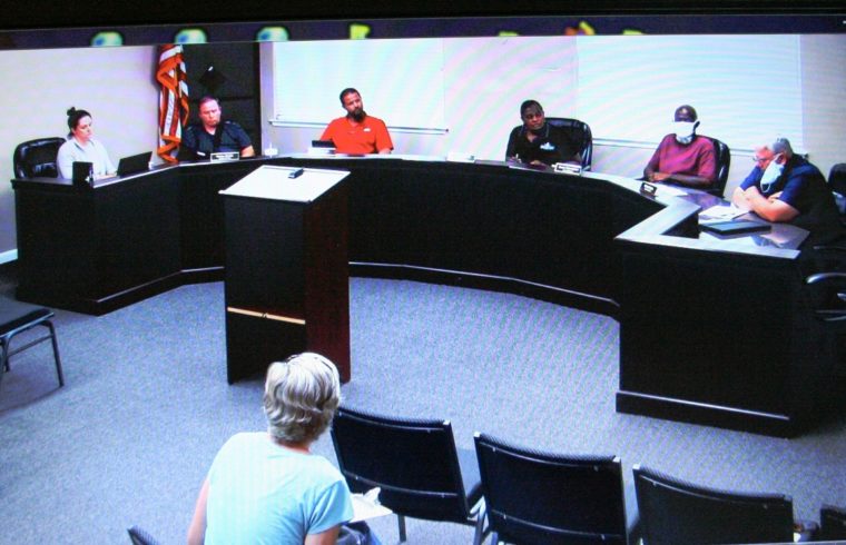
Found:
<path fill-rule="evenodd" d="M 568 133 L 547 122 L 543 107 L 537 100 L 520 105 L 523 125 L 514 127 L 505 148 L 505 160 L 528 165 L 576 162 L 581 165 L 579 145 L 570 140 Z"/>

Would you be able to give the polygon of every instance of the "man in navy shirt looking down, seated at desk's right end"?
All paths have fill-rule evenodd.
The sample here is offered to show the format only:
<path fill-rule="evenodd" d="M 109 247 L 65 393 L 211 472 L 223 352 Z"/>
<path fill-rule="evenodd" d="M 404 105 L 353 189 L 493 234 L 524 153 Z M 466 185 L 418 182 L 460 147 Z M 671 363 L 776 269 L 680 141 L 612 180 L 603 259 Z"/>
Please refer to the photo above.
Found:
<path fill-rule="evenodd" d="M 817 167 L 794 155 L 789 140 L 755 148 L 755 168 L 731 201 L 767 221 L 787 221 L 811 231 L 814 244 L 844 235 L 834 195 Z"/>

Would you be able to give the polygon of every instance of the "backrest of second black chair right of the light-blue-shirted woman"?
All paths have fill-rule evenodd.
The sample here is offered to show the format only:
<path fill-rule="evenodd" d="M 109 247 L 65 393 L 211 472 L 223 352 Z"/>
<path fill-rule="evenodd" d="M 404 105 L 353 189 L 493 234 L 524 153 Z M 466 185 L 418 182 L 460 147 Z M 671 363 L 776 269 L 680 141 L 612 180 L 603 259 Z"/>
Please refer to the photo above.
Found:
<path fill-rule="evenodd" d="M 626 543 L 614 456 L 562 456 L 475 434 L 488 521 L 509 543 Z"/>

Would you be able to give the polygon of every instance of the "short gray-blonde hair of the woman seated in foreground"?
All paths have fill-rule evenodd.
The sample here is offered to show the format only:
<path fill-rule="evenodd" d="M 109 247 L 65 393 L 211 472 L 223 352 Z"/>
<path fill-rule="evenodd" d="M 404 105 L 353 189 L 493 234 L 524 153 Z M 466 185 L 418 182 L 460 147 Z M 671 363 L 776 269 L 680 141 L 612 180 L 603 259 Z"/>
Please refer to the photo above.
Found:
<path fill-rule="evenodd" d="M 264 410 L 274 437 L 291 443 L 317 439 L 340 404 L 337 367 L 319 354 L 298 354 L 267 368 Z"/>

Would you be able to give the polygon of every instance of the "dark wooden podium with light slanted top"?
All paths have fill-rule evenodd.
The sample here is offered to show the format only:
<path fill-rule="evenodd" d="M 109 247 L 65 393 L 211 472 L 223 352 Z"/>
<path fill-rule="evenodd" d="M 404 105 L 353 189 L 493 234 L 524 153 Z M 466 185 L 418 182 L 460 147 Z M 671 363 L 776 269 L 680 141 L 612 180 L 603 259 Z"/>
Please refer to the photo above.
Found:
<path fill-rule="evenodd" d="M 304 350 L 350 380 L 350 172 L 297 170 L 263 166 L 220 191 L 229 384 Z"/>

